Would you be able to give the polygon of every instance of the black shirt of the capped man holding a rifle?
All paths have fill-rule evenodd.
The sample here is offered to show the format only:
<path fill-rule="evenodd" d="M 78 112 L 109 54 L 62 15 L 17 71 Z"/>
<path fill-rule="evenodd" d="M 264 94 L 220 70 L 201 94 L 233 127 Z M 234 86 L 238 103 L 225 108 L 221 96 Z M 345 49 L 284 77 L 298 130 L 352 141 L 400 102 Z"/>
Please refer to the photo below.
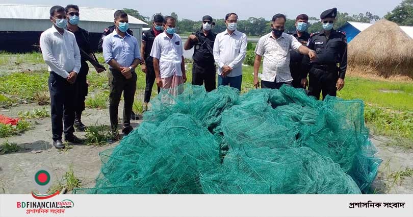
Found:
<path fill-rule="evenodd" d="M 199 66 L 214 64 L 214 55 L 208 50 L 206 43 L 208 43 L 213 49 L 217 34 L 209 31 L 208 35 L 205 36 L 205 34 L 203 34 L 203 30 L 199 30 L 198 32 L 195 32 L 194 35 L 204 41 L 204 43 L 201 43 L 200 40 L 198 40 L 195 44 L 192 44 L 193 42 L 191 41 L 191 45 L 194 46 L 194 55 L 192 55 L 194 62 Z"/>

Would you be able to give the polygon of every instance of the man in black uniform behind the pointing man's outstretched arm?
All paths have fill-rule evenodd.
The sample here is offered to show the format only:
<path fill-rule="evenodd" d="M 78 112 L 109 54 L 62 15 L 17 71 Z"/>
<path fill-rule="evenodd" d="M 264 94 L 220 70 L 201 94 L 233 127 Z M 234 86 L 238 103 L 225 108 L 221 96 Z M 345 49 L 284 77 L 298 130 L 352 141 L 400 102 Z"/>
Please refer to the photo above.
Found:
<path fill-rule="evenodd" d="M 306 46 L 309 39 L 309 33 L 306 32 L 307 23 L 308 16 L 306 14 L 300 14 L 297 18 L 295 18 L 296 30 L 289 32 L 290 35 L 293 35 L 304 46 Z M 308 69 L 308 67 L 303 67 L 304 55 L 295 51 L 290 51 L 290 56 L 290 71 L 291 77 L 293 77 L 292 85 L 295 88 L 301 88 L 301 74 L 303 74 L 302 70 Z"/>

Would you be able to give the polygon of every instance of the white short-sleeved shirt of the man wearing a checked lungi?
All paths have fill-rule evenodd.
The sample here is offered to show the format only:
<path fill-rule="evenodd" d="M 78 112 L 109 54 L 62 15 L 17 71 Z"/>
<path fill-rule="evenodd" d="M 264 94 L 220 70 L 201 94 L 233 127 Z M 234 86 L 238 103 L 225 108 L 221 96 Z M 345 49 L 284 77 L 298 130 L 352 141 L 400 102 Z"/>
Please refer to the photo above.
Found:
<path fill-rule="evenodd" d="M 159 59 L 159 74 L 161 78 L 173 75 L 182 76 L 182 56 L 184 48 L 179 35 L 173 34 L 172 38 L 163 32 L 153 41 L 150 56 Z"/>

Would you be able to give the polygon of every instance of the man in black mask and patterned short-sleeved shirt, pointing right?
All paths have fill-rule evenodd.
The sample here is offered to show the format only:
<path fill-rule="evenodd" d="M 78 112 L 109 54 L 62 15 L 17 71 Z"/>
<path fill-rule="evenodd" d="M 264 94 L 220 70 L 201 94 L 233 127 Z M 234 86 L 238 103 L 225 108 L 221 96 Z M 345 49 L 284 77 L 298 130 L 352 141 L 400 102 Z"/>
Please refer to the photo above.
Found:
<path fill-rule="evenodd" d="M 308 55 L 311 60 L 316 58 L 316 52 L 309 50 L 298 40 L 284 33 L 286 16 L 275 14 L 272 17 L 272 31 L 264 35 L 255 47 L 254 86 L 259 87 L 258 71 L 264 56 L 261 87 L 279 89 L 282 84 L 291 85 L 293 77 L 290 72 L 290 50 Z"/>

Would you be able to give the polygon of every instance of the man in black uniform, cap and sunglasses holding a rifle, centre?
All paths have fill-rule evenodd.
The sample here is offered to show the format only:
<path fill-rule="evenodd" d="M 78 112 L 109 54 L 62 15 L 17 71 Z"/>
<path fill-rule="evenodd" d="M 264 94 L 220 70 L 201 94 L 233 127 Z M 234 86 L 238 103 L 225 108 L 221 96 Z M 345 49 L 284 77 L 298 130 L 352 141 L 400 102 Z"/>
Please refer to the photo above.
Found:
<path fill-rule="evenodd" d="M 215 61 L 214 61 L 214 41 L 217 36 L 211 31 L 212 17 L 205 15 L 202 17 L 202 28 L 188 37 L 185 42 L 184 49 L 191 50 L 193 46 L 194 60 L 192 67 L 192 84 L 205 84 L 205 90 L 208 92 L 214 90 L 215 87 Z"/>

